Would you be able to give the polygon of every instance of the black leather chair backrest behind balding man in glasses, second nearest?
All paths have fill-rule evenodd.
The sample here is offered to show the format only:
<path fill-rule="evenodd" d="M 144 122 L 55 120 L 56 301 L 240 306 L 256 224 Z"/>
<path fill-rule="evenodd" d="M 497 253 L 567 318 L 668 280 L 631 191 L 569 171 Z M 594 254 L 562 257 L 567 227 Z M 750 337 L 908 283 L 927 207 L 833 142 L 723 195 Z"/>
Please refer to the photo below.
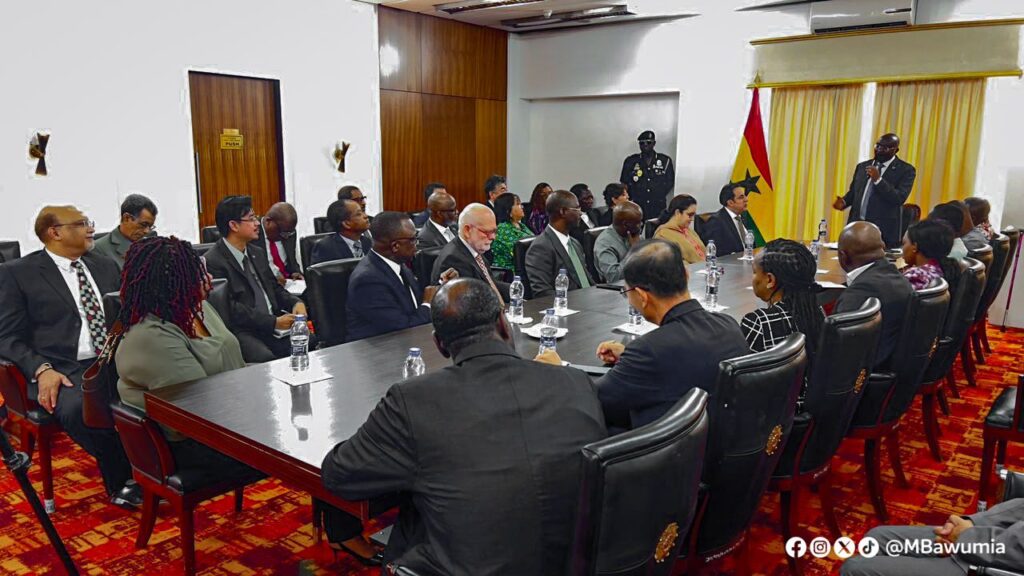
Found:
<path fill-rule="evenodd" d="M 807 352 L 797 332 L 775 347 L 719 365 L 705 457 L 708 503 L 696 551 L 741 536 L 758 509 L 793 427 Z"/>

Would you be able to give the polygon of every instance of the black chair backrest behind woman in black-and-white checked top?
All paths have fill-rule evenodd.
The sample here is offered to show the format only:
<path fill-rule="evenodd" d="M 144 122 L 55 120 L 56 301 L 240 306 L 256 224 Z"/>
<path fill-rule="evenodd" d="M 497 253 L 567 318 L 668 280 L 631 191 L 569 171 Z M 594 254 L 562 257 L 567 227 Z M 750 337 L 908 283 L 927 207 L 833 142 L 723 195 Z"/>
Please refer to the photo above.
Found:
<path fill-rule="evenodd" d="M 881 330 L 878 298 L 867 298 L 860 310 L 825 318 L 804 398 L 804 410 L 813 417 L 814 428 L 799 471 L 820 468 L 839 450 L 870 375 Z"/>

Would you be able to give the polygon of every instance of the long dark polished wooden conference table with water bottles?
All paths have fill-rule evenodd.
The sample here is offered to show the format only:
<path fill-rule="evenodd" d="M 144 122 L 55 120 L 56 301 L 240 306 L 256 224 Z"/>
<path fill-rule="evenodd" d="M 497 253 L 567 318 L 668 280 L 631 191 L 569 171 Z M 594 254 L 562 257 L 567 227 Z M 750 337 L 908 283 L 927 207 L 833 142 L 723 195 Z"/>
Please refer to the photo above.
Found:
<path fill-rule="evenodd" d="M 719 304 L 738 322 L 764 305 L 751 289 L 753 271 L 740 254 L 719 258 L 724 271 Z M 822 300 L 833 299 L 846 275 L 836 252 L 822 250 L 819 282 L 828 288 Z M 702 299 L 703 264 L 688 266 L 692 295 Z M 527 300 L 524 316 L 540 322 L 552 298 Z M 629 344 L 637 336 L 616 331 L 629 322 L 628 304 L 617 287 L 598 286 L 573 290 L 568 307 L 577 314 L 559 318 L 568 333 L 558 339 L 563 361 L 587 370 L 596 364 L 599 343 L 618 340 Z M 515 347 L 523 358 L 534 358 L 539 340 L 515 325 Z M 272 374 L 290 370 L 290 359 L 247 366 L 201 380 L 146 393 L 152 418 L 179 430 L 232 458 L 275 477 L 286 485 L 326 500 L 367 520 L 392 507 L 396 498 L 350 502 L 329 493 L 321 482 L 321 462 L 337 444 L 351 438 L 385 396 L 401 380 L 410 347 L 423 351 L 427 372 L 451 364 L 434 346 L 430 325 L 418 326 L 309 354 L 310 366 L 326 379 L 289 384 Z"/>

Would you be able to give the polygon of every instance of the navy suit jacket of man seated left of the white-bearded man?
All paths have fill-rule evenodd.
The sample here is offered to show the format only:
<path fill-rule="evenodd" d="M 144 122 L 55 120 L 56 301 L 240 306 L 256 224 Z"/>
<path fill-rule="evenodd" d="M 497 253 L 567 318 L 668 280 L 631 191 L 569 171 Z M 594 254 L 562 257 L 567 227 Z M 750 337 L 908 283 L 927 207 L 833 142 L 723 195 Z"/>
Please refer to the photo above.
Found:
<path fill-rule="evenodd" d="M 348 341 L 361 340 L 430 322 L 430 307 L 423 305 L 423 291 L 409 266 L 401 275 L 416 293 L 416 304 L 409 288 L 375 252 L 369 252 L 352 271 L 348 280 Z"/>

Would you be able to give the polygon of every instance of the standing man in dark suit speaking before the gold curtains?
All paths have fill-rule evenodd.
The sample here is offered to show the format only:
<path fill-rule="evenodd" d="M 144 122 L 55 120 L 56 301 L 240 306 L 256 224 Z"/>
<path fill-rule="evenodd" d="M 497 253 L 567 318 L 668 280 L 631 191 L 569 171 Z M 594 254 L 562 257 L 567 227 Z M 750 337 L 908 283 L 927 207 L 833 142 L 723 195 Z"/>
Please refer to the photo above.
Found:
<path fill-rule="evenodd" d="M 918 171 L 896 157 L 899 136 L 885 134 L 874 145 L 874 158 L 857 164 L 850 190 L 836 198 L 833 208 L 850 208 L 848 222 L 867 220 L 879 227 L 888 248 L 903 242 L 903 203 L 910 196 Z"/>

